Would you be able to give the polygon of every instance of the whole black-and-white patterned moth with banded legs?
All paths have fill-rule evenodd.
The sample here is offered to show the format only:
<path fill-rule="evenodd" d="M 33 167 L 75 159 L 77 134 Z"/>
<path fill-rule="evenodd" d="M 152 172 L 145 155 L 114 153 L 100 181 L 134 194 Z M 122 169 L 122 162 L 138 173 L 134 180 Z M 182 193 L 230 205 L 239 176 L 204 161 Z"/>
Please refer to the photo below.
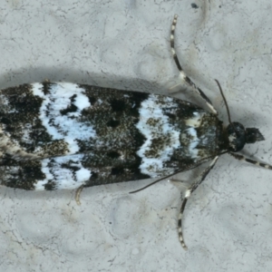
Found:
<path fill-rule="evenodd" d="M 177 15 L 170 32 L 173 59 L 182 80 L 206 102 L 209 112 L 170 96 L 75 83 L 7 88 L 0 91 L 1 185 L 77 189 L 79 202 L 85 187 L 149 178 L 158 182 L 210 161 L 186 190 L 180 208 L 180 243 L 187 248 L 181 231 L 185 205 L 220 155 L 272 167 L 236 154 L 246 143 L 264 137 L 256 128 L 230 121 L 229 112 L 227 127 L 219 120 L 209 98 L 180 66 L 174 47 L 176 24 Z"/>

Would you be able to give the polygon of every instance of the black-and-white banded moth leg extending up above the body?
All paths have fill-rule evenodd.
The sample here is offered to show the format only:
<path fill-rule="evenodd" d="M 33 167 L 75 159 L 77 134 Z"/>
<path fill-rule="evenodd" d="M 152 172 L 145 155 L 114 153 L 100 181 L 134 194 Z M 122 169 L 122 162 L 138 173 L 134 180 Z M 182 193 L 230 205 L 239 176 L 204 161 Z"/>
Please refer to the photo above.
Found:
<path fill-rule="evenodd" d="M 210 102 L 210 100 L 206 96 L 206 94 L 201 89 L 199 89 L 199 87 L 197 87 L 196 84 L 193 83 L 189 79 L 189 77 L 186 75 L 186 73 L 184 73 L 183 70 L 182 70 L 182 67 L 180 65 L 180 61 L 179 61 L 177 53 L 175 51 L 175 43 L 174 43 L 177 19 L 178 19 L 178 15 L 175 15 L 174 19 L 173 19 L 173 22 L 172 22 L 172 26 L 171 26 L 170 47 L 171 47 L 171 52 L 172 52 L 173 59 L 174 59 L 176 65 L 177 65 L 177 67 L 178 67 L 178 69 L 180 71 L 181 79 L 184 80 L 186 83 L 188 83 L 189 86 L 193 89 L 194 92 L 198 93 L 198 95 L 206 102 L 206 104 L 208 105 L 211 112 L 213 112 L 215 115 L 218 115 L 218 111 L 214 108 L 214 106 L 212 105 L 212 103 Z"/>

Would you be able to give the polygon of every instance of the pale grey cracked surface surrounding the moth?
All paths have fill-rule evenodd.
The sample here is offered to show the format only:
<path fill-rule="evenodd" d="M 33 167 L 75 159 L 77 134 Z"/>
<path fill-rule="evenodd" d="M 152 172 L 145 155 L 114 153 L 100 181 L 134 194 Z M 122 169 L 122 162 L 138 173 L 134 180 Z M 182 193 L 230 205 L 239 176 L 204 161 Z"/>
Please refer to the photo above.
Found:
<path fill-rule="evenodd" d="M 213 81 L 219 80 L 233 120 L 258 127 L 267 139 L 247 153 L 272 163 L 271 1 L 0 2 L 2 88 L 49 79 L 167 94 L 179 83 L 169 45 L 179 15 L 176 44 L 185 71 L 227 121 Z M 185 97 L 203 105 L 189 91 Z M 1 188 L 0 270 L 272 268 L 272 171 L 222 156 L 189 199 L 188 251 L 177 235 L 185 188 L 164 180 L 129 194 L 147 183 L 84 189 L 81 206 L 73 191 Z"/>

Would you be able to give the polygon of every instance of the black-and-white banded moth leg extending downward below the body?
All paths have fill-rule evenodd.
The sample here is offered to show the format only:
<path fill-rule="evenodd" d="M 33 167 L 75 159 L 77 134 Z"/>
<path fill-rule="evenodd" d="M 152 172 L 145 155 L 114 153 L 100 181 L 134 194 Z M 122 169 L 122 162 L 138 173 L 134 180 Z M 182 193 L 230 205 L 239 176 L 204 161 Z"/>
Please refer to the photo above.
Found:
<path fill-rule="evenodd" d="M 209 166 L 199 175 L 199 177 L 190 185 L 189 189 L 187 189 L 185 192 L 185 196 L 180 207 L 180 215 L 179 215 L 179 221 L 178 221 L 180 243 L 182 248 L 184 249 L 187 249 L 187 246 L 185 245 L 183 235 L 182 235 L 181 221 L 182 221 L 183 212 L 184 212 L 187 200 L 189 199 L 191 193 L 199 187 L 199 184 L 201 184 L 201 182 L 205 180 L 206 176 L 209 174 L 209 171 L 212 170 L 212 168 L 214 167 L 218 159 L 219 159 L 219 156 L 216 156 L 210 162 Z"/>

